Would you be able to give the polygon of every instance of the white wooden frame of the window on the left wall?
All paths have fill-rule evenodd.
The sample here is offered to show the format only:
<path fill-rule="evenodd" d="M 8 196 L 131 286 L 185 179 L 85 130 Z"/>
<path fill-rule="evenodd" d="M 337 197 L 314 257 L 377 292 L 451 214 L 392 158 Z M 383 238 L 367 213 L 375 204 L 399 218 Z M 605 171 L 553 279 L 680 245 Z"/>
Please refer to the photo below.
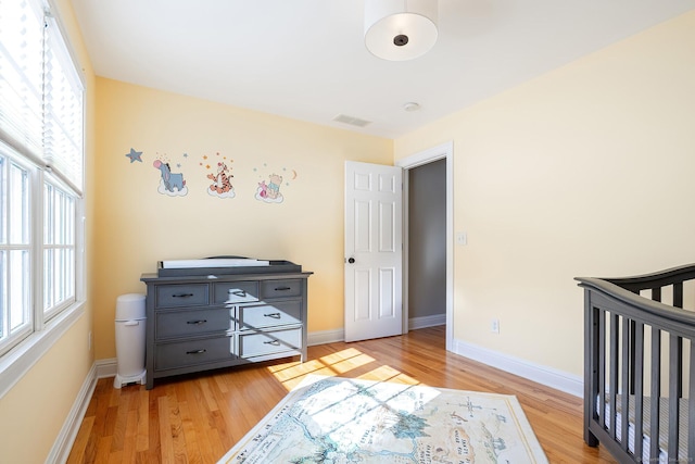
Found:
<path fill-rule="evenodd" d="M 53 21 L 60 34 L 66 41 L 68 59 L 76 70 L 83 89 L 85 78 L 77 65 L 75 54 L 67 41 L 67 35 L 61 26 L 59 17 L 55 17 L 56 9 L 51 2 L 45 4 L 46 11 L 51 11 Z M 83 90 L 84 92 L 84 90 Z M 86 95 L 83 93 L 83 115 L 86 115 Z M 83 117 L 83 134 L 86 117 Z M 51 174 L 50 165 L 37 162 L 36 156 L 13 143 L 4 143 L 0 140 L 4 156 L 9 161 L 27 168 L 29 173 L 30 195 L 30 266 L 31 266 L 31 312 L 33 331 L 18 344 L 0 355 L 0 398 L 12 389 L 22 377 L 46 354 L 51 347 L 85 314 L 86 306 L 86 253 L 85 253 L 85 199 L 79 188 L 75 188 L 70 181 L 64 181 L 61 173 Z M 83 142 L 83 163 L 85 143 Z M 43 305 L 43 192 L 46 181 L 56 188 L 70 192 L 74 198 L 74 298 L 70 298 L 64 304 L 45 312 Z M 85 349 L 89 349 L 91 340 L 85 340 Z"/>

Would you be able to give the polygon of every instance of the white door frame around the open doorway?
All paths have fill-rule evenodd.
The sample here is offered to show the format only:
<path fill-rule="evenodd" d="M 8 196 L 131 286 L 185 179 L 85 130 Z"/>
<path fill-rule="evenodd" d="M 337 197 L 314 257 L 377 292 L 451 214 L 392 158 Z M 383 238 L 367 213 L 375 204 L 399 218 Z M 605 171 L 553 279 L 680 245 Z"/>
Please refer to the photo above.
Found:
<path fill-rule="evenodd" d="M 395 162 L 403 173 L 403 334 L 408 333 L 408 178 L 407 171 L 431 163 L 446 160 L 446 351 L 453 350 L 454 343 L 454 142 L 448 141 L 428 150 L 414 153 Z"/>

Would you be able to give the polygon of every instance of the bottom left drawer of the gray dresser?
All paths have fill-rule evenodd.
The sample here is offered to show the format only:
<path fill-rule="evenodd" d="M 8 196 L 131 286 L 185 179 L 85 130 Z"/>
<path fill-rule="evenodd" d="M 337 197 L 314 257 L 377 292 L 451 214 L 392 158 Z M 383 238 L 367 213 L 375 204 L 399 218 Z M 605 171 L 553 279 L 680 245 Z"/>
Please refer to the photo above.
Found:
<path fill-rule="evenodd" d="M 218 337 L 156 344 L 154 348 L 154 368 L 164 371 L 230 360 L 233 358 L 231 354 L 232 341 L 232 337 Z"/>

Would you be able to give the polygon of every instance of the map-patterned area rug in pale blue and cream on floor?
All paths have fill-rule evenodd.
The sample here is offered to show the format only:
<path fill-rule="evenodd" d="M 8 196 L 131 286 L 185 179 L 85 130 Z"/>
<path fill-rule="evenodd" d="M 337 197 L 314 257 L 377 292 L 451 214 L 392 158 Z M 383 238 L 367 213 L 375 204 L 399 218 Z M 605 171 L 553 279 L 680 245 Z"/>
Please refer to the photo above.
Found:
<path fill-rule="evenodd" d="M 219 463 L 547 463 L 514 396 L 309 376 Z"/>

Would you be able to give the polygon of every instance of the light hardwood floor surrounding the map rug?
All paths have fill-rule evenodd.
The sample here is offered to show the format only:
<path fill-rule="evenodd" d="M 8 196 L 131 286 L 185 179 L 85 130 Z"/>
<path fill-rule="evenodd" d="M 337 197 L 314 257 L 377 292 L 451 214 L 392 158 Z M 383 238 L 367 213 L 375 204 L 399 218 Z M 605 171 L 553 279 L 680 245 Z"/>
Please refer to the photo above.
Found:
<path fill-rule="evenodd" d="M 582 400 L 444 349 L 444 327 L 309 347 L 296 359 L 113 388 L 100 379 L 68 463 L 215 463 L 307 374 L 516 394 L 551 463 L 615 463 L 583 441 Z"/>

